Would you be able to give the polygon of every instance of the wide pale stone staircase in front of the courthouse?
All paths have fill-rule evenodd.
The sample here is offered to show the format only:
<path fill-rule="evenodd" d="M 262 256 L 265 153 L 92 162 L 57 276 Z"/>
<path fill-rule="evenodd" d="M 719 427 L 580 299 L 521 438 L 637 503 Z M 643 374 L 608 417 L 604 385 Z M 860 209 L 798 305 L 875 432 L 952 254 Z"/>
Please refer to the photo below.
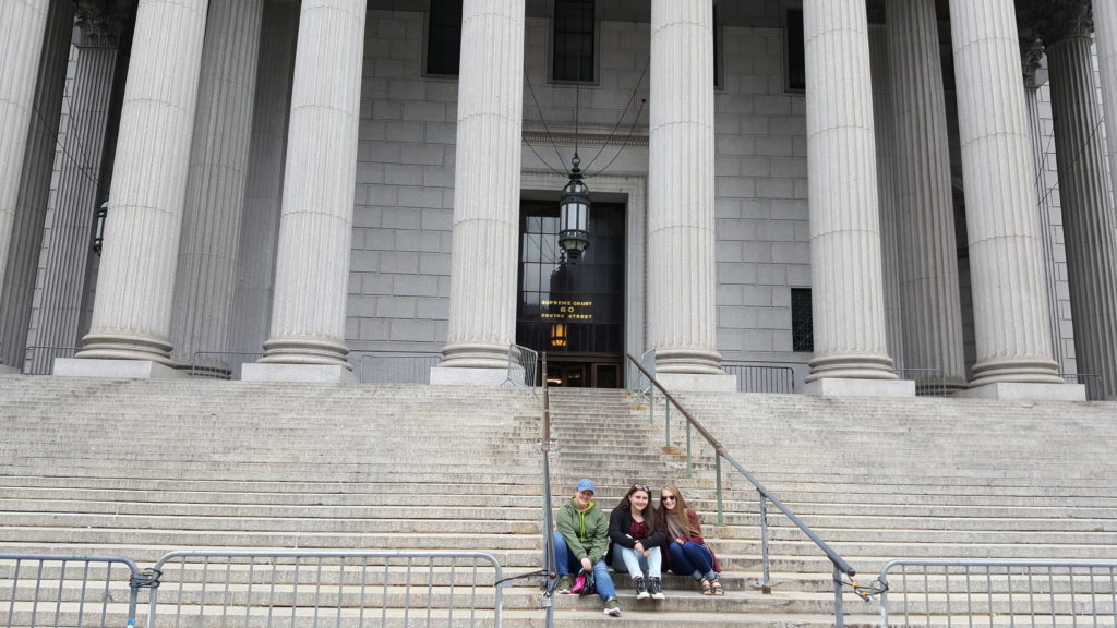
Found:
<path fill-rule="evenodd" d="M 710 448 L 693 435 L 687 477 L 677 412 L 667 443 L 661 401 L 650 421 L 647 400 L 623 391 L 551 399 L 555 506 L 583 476 L 605 508 L 633 482 L 677 484 L 722 562 L 716 599 L 670 575 L 667 600 L 638 603 L 615 575 L 624 612 L 610 624 L 833 624 L 829 561 L 773 510 L 761 591 L 757 494 L 723 464 L 717 525 Z M 1117 405 L 680 399 L 861 583 L 894 558 L 1117 560 Z M 505 575 L 527 573 L 540 567 L 540 422 L 536 394 L 513 388 L 0 377 L 0 553 L 144 567 L 199 548 L 484 551 Z M 0 624 L 11 608 L 10 625 L 27 626 L 32 597 L 0 590 Z M 504 624 L 542 626 L 538 597 L 537 581 L 515 581 Z M 848 626 L 879 625 L 876 600 L 844 599 Z M 561 627 L 607 619 L 593 598 L 555 606 Z M 123 626 L 123 607 L 112 612 L 106 625 Z"/>

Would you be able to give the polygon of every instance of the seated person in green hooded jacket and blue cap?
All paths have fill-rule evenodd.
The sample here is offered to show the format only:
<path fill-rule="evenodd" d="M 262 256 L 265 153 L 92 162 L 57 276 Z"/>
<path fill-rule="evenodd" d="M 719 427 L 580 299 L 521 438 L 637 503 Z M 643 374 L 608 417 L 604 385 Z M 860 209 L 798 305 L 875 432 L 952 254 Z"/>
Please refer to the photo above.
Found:
<path fill-rule="evenodd" d="M 605 615 L 617 617 L 621 606 L 617 589 L 605 567 L 609 548 L 609 515 L 593 502 L 593 480 L 577 480 L 574 497 L 555 515 L 555 568 L 560 593 L 570 593 L 571 570 L 577 565 L 584 573 L 593 572 L 598 594 L 605 602 Z"/>

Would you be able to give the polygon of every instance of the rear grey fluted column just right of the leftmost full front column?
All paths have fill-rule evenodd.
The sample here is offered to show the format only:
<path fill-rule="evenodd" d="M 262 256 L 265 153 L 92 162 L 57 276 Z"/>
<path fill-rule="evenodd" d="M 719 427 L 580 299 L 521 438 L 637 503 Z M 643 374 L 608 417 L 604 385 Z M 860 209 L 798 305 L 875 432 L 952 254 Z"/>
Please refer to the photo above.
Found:
<path fill-rule="evenodd" d="M 194 352 L 228 351 L 262 11 L 264 0 L 210 0 L 171 318 L 183 369 Z M 194 367 L 227 377 L 229 363 L 208 355 Z"/>

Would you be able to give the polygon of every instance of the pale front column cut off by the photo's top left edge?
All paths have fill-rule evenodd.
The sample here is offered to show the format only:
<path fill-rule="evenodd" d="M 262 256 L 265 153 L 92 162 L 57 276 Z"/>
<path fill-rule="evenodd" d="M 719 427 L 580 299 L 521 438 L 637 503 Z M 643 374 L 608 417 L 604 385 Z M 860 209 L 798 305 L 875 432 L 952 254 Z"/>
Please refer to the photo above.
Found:
<path fill-rule="evenodd" d="M 0 11 L 0 288 L 7 275 L 49 3 L 8 0 Z M 7 298 L 0 293 L 0 301 Z"/>

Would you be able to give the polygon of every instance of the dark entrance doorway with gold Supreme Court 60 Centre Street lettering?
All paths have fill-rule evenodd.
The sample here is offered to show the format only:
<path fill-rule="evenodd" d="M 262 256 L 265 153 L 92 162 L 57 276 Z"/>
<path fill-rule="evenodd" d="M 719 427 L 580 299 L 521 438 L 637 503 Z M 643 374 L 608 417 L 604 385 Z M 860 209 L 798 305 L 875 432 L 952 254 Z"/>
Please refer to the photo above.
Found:
<path fill-rule="evenodd" d="M 624 258 L 623 203 L 594 203 L 576 261 L 558 247 L 558 203 L 521 203 L 516 343 L 547 353 L 548 386 L 622 386 Z"/>

